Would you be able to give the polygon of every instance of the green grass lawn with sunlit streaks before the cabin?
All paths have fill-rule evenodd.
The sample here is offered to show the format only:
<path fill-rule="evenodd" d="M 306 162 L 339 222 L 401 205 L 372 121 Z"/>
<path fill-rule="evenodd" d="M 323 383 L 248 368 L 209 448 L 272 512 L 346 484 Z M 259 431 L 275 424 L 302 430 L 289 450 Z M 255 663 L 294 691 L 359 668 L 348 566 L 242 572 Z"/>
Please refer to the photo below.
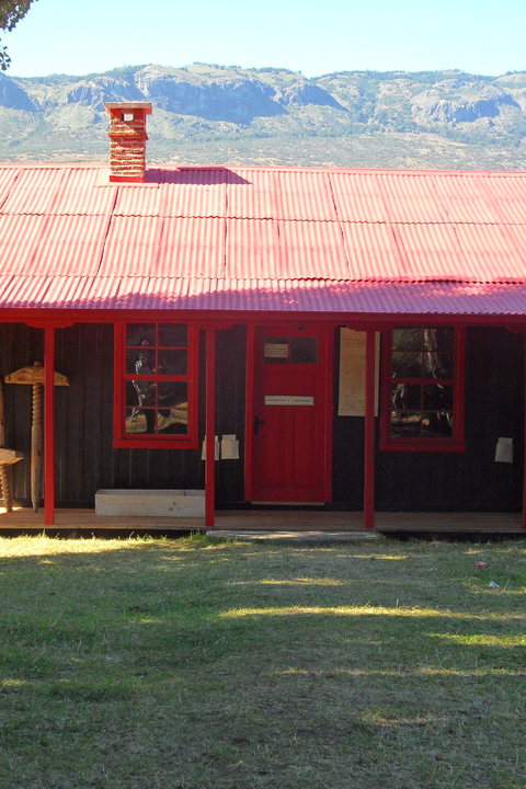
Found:
<path fill-rule="evenodd" d="M 526 787 L 524 540 L 12 538 L 0 583 L 2 789 Z"/>

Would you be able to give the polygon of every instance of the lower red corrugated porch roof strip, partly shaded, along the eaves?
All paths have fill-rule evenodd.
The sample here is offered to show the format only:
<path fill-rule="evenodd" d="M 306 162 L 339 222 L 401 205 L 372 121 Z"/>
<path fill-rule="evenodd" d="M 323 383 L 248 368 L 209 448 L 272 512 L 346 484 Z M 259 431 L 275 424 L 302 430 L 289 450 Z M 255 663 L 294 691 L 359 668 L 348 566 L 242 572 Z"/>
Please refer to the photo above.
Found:
<path fill-rule="evenodd" d="M 522 316 L 526 285 L 0 275 L 13 309 L 182 309 Z"/>

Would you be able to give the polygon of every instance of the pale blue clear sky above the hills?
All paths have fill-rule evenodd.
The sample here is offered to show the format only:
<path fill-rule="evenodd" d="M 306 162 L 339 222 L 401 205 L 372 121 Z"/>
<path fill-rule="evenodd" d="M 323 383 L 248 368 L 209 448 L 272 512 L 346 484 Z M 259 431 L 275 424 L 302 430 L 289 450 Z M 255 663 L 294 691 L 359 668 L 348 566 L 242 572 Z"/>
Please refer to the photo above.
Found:
<path fill-rule="evenodd" d="M 36 0 L 2 34 L 9 73 L 118 66 L 526 70 L 526 0 Z"/>

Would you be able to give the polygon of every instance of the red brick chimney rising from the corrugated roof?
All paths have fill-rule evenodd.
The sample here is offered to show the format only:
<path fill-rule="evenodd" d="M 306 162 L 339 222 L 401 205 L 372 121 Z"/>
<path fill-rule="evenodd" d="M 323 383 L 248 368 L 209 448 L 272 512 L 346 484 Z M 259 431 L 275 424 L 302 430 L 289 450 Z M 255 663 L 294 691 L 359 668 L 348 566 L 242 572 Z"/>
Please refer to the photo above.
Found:
<path fill-rule="evenodd" d="M 146 172 L 146 116 L 149 102 L 107 102 L 110 181 L 141 183 Z"/>

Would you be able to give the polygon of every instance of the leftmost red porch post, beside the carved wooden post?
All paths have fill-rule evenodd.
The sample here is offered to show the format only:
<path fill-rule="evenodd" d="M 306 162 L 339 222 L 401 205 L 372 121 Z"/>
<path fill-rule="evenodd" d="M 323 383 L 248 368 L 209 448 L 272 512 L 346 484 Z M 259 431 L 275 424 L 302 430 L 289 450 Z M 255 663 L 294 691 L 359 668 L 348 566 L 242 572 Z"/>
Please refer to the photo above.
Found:
<path fill-rule="evenodd" d="M 55 523 L 55 327 L 44 329 L 44 523 Z"/>

